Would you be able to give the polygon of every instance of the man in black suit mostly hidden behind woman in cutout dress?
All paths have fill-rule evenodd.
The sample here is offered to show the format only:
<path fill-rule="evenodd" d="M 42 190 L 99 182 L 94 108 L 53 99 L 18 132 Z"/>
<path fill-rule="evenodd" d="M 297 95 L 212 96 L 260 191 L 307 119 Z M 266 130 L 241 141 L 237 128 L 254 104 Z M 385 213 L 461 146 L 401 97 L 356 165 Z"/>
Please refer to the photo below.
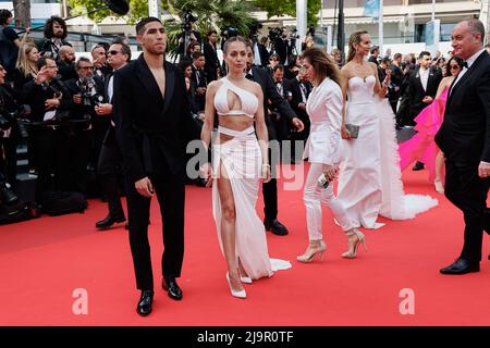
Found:
<path fill-rule="evenodd" d="M 266 124 L 267 129 L 269 132 L 269 141 L 275 140 L 278 137 L 275 135 L 275 129 L 272 120 L 267 116 L 269 100 L 271 101 L 271 105 L 279 110 L 282 116 L 290 120 L 290 124 L 292 124 L 298 132 L 304 129 L 303 122 L 295 115 L 294 111 L 289 105 L 287 101 L 282 98 L 278 94 L 278 89 L 274 86 L 274 83 L 270 75 L 266 70 L 262 70 L 257 66 L 252 66 L 254 62 L 254 51 L 252 50 L 252 45 L 247 45 L 247 66 L 246 66 L 246 77 L 255 80 L 260 85 L 264 92 L 264 111 L 266 114 Z M 272 157 L 269 156 L 270 161 L 272 161 Z M 264 194 L 264 212 L 266 214 L 266 219 L 264 220 L 264 225 L 266 229 L 271 231 L 273 234 L 279 236 L 287 235 L 287 228 L 278 221 L 278 183 L 274 176 L 274 162 L 271 162 L 272 170 L 272 178 L 269 183 L 262 185 L 262 194 Z"/>

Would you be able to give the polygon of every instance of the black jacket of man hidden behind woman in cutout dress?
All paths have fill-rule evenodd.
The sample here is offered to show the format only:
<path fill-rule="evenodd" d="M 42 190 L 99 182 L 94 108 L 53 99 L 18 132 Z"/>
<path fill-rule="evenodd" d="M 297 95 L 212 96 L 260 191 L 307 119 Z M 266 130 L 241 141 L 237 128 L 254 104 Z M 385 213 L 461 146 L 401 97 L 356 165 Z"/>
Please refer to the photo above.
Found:
<path fill-rule="evenodd" d="M 269 100 L 271 102 L 271 107 L 277 109 L 281 116 L 286 117 L 289 122 L 292 121 L 293 117 L 296 116 L 293 109 L 291 109 L 287 101 L 279 95 L 278 89 L 275 88 L 274 82 L 272 77 L 267 73 L 266 70 L 253 66 L 252 75 L 254 76 L 254 80 L 260 85 L 264 92 L 264 115 L 266 119 L 267 129 L 269 132 L 269 139 L 277 139 L 278 136 L 275 134 L 275 128 L 272 120 L 268 116 L 267 110 L 269 109 Z"/>

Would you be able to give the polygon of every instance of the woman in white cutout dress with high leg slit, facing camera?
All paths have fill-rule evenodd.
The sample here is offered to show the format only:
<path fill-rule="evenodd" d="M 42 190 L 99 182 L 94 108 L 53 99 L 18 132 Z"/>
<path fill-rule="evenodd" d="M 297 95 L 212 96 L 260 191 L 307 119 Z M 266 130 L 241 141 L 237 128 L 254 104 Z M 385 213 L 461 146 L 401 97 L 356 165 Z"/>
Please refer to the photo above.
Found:
<path fill-rule="evenodd" d="M 287 261 L 269 259 L 266 231 L 255 209 L 259 179 L 270 181 L 270 165 L 262 90 L 244 74 L 246 45 L 241 37 L 224 44 L 229 74 L 208 86 L 201 130 L 201 140 L 208 148 L 216 111 L 219 127 L 212 144 L 212 169 L 204 165 L 203 175 L 208 185 L 212 181 L 218 239 L 228 264 L 226 279 L 232 296 L 237 298 L 246 297 L 242 283 L 291 268 Z"/>

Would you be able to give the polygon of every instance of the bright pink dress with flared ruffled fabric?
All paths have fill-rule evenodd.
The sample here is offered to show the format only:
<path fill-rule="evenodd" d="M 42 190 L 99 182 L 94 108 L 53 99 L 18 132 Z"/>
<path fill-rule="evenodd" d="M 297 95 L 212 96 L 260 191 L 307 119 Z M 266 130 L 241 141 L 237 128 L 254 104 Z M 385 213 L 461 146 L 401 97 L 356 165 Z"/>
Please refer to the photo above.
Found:
<path fill-rule="evenodd" d="M 436 177 L 436 157 L 439 153 L 439 148 L 433 138 L 444 119 L 448 91 L 449 88 L 445 88 L 438 99 L 433 100 L 415 117 L 417 134 L 399 146 L 402 171 L 414 161 L 420 161 L 426 164 L 430 182 L 433 182 Z"/>

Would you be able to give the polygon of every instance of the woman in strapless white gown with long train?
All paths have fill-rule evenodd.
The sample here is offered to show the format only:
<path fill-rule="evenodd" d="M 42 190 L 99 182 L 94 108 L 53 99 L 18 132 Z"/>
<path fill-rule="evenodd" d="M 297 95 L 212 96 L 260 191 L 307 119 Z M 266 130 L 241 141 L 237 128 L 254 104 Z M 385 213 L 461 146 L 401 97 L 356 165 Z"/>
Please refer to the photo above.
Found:
<path fill-rule="evenodd" d="M 342 138 L 347 151 L 341 165 L 339 199 L 354 226 L 379 228 L 383 224 L 377 222 L 378 215 L 413 219 L 438 201 L 403 191 L 394 114 L 384 98 L 391 74 L 387 71 L 382 85 L 379 83 L 377 65 L 367 61 L 370 48 L 367 32 L 354 33 L 347 64 L 341 71 L 346 99 Z M 351 137 L 346 124 L 359 126 L 357 138 Z"/>

